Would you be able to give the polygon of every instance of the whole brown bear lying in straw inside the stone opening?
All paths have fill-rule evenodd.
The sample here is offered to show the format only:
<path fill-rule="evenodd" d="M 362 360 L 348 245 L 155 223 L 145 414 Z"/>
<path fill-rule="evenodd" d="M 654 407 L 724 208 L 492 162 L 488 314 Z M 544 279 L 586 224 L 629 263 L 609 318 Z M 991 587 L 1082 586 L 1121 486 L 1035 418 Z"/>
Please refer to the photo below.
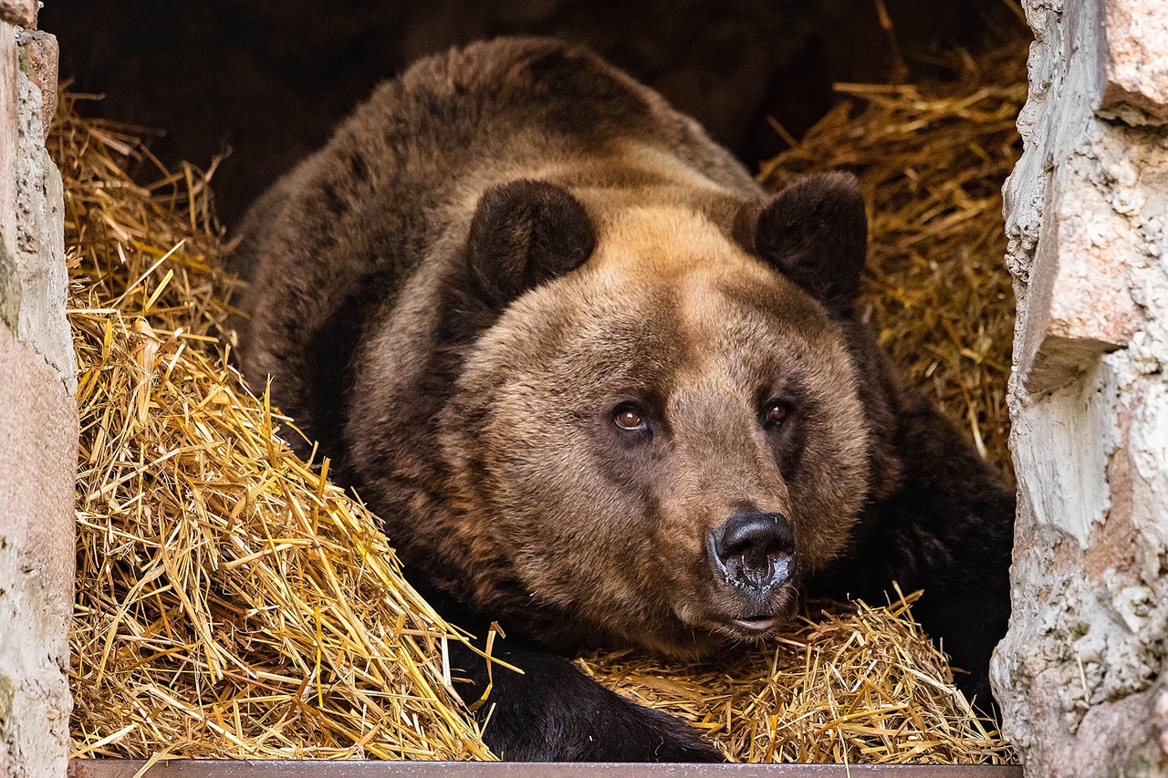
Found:
<path fill-rule="evenodd" d="M 716 657 L 804 590 L 924 588 L 988 700 L 1014 498 L 857 320 L 851 176 L 769 195 L 589 51 L 502 39 L 382 84 L 241 234 L 246 376 L 439 610 L 507 632 L 503 758 L 717 758 L 566 657 Z"/>

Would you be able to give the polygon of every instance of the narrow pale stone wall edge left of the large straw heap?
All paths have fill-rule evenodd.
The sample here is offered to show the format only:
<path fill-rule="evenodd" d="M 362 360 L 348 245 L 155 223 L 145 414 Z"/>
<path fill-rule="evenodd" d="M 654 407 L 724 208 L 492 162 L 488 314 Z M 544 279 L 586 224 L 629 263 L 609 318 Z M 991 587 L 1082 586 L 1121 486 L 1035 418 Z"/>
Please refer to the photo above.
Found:
<path fill-rule="evenodd" d="M 64 776 L 76 377 L 61 176 L 44 150 L 56 42 L 0 0 L 0 776 Z"/>

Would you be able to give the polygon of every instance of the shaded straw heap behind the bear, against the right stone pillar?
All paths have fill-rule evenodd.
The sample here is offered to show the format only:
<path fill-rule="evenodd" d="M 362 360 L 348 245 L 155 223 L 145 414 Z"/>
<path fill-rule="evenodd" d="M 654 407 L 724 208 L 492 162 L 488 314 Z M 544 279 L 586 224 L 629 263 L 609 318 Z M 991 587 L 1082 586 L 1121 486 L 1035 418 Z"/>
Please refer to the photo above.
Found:
<path fill-rule="evenodd" d="M 865 107 L 841 103 L 759 174 L 772 188 L 814 171 L 860 178 L 871 236 L 861 310 L 909 381 L 1009 475 L 1014 292 L 1001 188 L 1022 153 L 1026 56 L 1018 41 L 954 55 L 952 82 L 836 84 Z"/>

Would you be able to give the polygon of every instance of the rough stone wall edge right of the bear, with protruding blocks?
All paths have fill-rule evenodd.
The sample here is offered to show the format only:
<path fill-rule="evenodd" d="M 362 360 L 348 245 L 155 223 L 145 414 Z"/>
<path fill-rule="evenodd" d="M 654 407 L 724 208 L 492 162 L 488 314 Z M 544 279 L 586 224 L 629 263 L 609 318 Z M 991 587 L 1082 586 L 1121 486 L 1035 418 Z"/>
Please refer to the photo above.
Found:
<path fill-rule="evenodd" d="M 1028 776 L 1168 776 L 1168 2 L 1023 5 L 1020 500 L 995 693 Z"/>

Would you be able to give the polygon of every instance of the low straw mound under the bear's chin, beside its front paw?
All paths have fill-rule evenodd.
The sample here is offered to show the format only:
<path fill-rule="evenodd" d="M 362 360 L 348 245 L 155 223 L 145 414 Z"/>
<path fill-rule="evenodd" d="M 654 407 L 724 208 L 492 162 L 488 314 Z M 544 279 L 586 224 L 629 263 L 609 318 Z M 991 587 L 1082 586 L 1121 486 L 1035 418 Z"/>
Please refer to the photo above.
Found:
<path fill-rule="evenodd" d="M 634 652 L 579 660 L 592 678 L 701 730 L 734 762 L 1004 764 L 995 725 L 953 687 L 945 655 L 885 607 L 820 604 L 773 646 L 712 664 Z"/>

